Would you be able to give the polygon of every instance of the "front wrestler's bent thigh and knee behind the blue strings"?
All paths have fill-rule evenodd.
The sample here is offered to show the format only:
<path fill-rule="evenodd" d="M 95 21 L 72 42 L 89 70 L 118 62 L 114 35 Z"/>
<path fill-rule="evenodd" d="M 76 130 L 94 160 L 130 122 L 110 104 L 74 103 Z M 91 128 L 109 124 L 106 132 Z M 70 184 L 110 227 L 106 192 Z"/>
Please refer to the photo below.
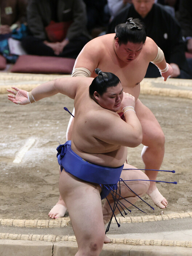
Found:
<path fill-rule="evenodd" d="M 135 170 L 125 170 L 129 168 Z M 121 195 L 123 197 L 131 197 L 136 194 L 142 195 L 146 193 L 150 185 L 149 178 L 144 172 L 126 163 L 124 164 L 124 169 L 121 172 L 120 178 L 124 180 L 124 182 L 120 182 Z"/>

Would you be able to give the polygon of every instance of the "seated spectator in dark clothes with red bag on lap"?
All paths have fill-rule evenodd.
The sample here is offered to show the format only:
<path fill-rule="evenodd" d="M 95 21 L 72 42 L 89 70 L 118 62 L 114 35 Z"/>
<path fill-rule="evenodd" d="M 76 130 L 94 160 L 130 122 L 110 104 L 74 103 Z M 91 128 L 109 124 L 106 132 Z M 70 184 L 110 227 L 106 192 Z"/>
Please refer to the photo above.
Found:
<path fill-rule="evenodd" d="M 91 39 L 83 0 L 29 0 L 31 32 L 22 41 L 28 54 L 77 58 Z"/>

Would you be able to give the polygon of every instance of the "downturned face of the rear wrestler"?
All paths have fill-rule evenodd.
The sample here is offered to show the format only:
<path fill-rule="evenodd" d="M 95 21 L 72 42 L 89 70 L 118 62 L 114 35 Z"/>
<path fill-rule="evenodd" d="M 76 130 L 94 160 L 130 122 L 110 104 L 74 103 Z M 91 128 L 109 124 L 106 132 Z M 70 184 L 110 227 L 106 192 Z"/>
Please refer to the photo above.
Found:
<path fill-rule="evenodd" d="M 119 44 L 119 39 L 115 39 L 115 53 L 121 61 L 130 63 L 134 61 L 141 53 L 144 44 L 128 42 Z"/>

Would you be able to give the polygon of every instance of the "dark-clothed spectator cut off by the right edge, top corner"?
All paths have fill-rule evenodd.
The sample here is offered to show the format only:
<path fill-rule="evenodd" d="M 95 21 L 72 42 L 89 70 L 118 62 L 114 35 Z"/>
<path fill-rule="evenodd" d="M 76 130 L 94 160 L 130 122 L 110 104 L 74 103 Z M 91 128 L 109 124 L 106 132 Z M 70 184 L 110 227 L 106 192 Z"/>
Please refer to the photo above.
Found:
<path fill-rule="evenodd" d="M 179 22 L 187 43 L 187 51 L 192 53 L 192 0 L 180 0 Z"/>

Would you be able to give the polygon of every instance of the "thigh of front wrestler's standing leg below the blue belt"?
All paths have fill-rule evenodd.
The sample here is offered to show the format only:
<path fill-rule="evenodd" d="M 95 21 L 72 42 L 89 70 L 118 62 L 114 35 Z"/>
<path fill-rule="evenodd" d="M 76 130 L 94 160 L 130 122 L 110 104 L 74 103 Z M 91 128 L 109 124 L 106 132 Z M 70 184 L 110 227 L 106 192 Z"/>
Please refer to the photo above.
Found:
<path fill-rule="evenodd" d="M 105 238 L 99 186 L 86 183 L 73 175 L 61 172 L 59 192 L 67 205 L 79 248 L 85 242 L 102 245 Z"/>

